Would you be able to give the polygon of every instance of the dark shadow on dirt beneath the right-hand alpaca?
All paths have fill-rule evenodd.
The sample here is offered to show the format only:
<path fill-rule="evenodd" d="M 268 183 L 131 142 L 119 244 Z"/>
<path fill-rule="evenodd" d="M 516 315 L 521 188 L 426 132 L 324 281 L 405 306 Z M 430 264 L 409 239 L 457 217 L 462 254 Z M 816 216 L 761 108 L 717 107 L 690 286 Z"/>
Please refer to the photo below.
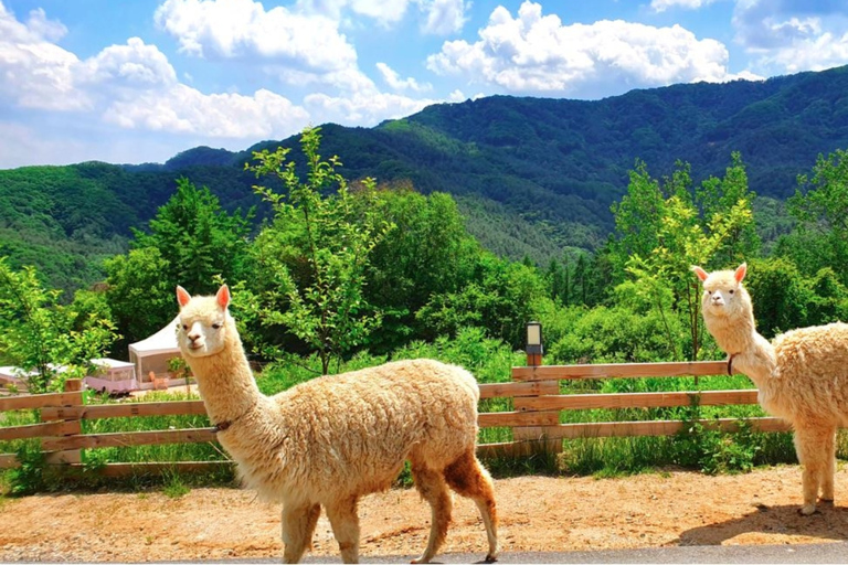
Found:
<path fill-rule="evenodd" d="M 797 504 L 759 504 L 741 518 L 687 530 L 672 544 L 721 545 L 745 533 L 848 540 L 848 508 L 819 502 L 817 509 L 815 514 L 804 516 Z"/>

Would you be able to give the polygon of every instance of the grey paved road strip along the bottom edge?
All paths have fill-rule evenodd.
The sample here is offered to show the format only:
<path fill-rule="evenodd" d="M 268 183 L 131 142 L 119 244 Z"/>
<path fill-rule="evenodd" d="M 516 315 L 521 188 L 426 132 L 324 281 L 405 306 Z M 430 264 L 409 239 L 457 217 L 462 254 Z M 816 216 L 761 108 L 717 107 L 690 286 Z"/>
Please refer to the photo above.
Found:
<path fill-rule="evenodd" d="M 369 563 L 410 563 L 413 555 L 396 557 L 361 556 Z M 434 563 L 481 563 L 483 554 L 448 553 L 436 556 Z M 173 562 L 170 562 L 173 563 Z M 188 562 L 187 562 L 188 563 Z M 279 563 L 279 558 L 258 561 L 230 559 L 192 563 Z M 307 557 L 303 563 L 341 563 L 336 558 Z M 615 550 L 561 553 L 505 553 L 498 559 L 508 563 L 848 563 L 848 543 L 815 543 L 798 545 L 689 545 L 650 550 Z"/>

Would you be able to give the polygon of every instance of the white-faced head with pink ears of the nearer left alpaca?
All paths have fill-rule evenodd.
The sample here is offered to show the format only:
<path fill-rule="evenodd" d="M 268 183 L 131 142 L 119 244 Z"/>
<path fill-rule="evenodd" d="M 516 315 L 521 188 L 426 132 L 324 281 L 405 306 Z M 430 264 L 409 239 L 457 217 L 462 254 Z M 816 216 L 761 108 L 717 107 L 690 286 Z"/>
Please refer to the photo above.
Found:
<path fill-rule="evenodd" d="M 192 298 L 178 286 L 177 301 L 180 305 L 180 323 L 177 341 L 187 359 L 205 358 L 220 353 L 226 345 L 226 334 L 234 331 L 226 307 L 230 305 L 230 289 L 222 286 L 215 296 Z"/>

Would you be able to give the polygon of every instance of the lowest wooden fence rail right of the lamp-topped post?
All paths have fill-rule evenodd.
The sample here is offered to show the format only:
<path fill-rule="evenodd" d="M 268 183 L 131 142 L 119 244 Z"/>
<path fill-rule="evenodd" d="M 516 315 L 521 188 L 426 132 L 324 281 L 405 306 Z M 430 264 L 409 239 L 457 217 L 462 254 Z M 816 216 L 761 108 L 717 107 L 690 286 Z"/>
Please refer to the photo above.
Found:
<path fill-rule="evenodd" d="M 755 431 L 788 431 L 792 427 L 780 418 L 745 418 Z M 700 420 L 708 429 L 732 433 L 739 429 L 738 418 Z M 680 420 L 650 422 L 602 422 L 585 424 L 560 424 L 548 428 L 548 437 L 562 439 L 594 437 L 672 436 L 682 429 Z"/>

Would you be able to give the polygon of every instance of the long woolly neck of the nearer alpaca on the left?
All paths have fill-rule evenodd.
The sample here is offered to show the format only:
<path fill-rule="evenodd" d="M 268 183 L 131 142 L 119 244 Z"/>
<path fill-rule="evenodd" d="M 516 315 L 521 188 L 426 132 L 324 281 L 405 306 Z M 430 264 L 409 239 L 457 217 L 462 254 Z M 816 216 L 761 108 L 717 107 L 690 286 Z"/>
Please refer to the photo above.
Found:
<path fill-rule="evenodd" d="M 190 359 L 189 365 L 213 423 L 240 418 L 263 397 L 237 337 L 220 353 Z"/>

